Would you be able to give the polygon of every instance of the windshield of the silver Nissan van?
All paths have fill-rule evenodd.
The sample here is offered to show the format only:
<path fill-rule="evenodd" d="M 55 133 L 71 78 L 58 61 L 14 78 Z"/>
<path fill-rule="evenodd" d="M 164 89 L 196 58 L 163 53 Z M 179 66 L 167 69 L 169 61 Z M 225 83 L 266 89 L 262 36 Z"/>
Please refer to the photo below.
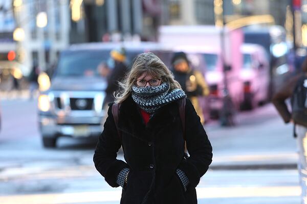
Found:
<path fill-rule="evenodd" d="M 57 76 L 98 76 L 98 67 L 106 63 L 109 58 L 109 50 L 72 51 L 61 54 L 56 75 Z"/>

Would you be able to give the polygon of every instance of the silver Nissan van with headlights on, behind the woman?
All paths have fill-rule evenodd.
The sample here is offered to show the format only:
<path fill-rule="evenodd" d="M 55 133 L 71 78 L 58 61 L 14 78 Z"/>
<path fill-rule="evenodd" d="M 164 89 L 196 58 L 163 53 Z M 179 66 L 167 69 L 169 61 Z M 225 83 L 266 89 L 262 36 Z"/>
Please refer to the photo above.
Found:
<path fill-rule="evenodd" d="M 102 108 L 107 86 L 97 67 L 107 62 L 116 47 L 126 49 L 127 64 L 143 52 L 162 55 L 157 43 L 86 43 L 72 45 L 60 54 L 51 86 L 38 99 L 39 126 L 45 147 L 55 147 L 59 137 L 97 137 L 103 130 Z"/>

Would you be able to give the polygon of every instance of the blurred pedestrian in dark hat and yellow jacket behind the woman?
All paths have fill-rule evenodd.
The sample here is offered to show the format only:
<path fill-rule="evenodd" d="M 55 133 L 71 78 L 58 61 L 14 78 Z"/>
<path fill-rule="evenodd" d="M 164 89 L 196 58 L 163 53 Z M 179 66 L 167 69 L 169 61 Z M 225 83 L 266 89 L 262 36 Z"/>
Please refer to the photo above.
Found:
<path fill-rule="evenodd" d="M 187 56 L 183 52 L 175 53 L 171 60 L 175 80 L 179 82 L 187 97 L 192 101 L 202 124 L 205 123 L 203 109 L 199 104 L 199 96 L 209 95 L 209 87 L 200 71 L 193 70 Z"/>

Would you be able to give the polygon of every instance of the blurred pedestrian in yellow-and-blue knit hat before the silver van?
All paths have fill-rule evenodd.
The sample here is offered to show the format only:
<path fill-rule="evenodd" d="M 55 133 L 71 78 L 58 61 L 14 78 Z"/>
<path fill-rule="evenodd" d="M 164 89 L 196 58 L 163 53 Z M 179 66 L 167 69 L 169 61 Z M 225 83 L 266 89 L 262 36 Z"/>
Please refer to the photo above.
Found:
<path fill-rule="evenodd" d="M 125 65 L 126 52 L 124 48 L 113 49 L 110 53 L 107 66 L 111 69 L 107 75 L 107 87 L 105 89 L 106 96 L 104 98 L 103 106 L 105 107 L 108 103 L 114 101 L 114 93 L 118 91 L 119 84 L 124 77 L 127 70 Z"/>

